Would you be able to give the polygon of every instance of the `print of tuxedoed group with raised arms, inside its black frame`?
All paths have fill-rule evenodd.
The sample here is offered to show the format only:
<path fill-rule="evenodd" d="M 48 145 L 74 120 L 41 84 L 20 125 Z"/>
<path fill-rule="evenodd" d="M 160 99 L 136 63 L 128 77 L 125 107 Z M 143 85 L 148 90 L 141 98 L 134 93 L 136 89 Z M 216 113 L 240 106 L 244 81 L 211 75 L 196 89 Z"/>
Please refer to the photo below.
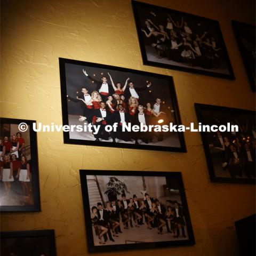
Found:
<path fill-rule="evenodd" d="M 179 134 L 127 132 L 124 124 L 177 124 L 167 79 L 124 71 L 66 64 L 69 125 L 93 124 L 99 132 L 69 132 L 75 140 L 181 147 Z M 116 131 L 106 125 L 117 123 Z"/>

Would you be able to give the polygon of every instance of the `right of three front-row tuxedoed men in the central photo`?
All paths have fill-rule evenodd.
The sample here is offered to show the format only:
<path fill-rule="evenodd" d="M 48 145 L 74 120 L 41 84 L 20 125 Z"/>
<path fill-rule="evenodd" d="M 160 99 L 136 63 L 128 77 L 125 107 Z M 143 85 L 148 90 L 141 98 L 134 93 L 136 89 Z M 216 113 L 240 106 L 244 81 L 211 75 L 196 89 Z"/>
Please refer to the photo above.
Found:
<path fill-rule="evenodd" d="M 134 115 L 132 119 L 133 125 L 140 125 L 143 123 L 145 125 L 150 124 L 150 116 L 144 113 L 144 107 L 142 105 L 138 106 L 138 112 Z M 144 143 L 148 143 L 152 141 L 152 133 L 151 132 L 134 132 L 132 137 L 135 139 L 135 144 L 139 144 L 138 140 L 142 140 Z"/>

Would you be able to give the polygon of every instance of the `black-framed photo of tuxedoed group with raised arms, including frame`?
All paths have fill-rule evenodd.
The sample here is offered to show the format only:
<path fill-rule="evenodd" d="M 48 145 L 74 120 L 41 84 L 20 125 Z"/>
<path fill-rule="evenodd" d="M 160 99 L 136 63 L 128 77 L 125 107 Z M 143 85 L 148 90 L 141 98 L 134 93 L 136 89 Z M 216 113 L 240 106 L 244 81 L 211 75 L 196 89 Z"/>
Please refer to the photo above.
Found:
<path fill-rule="evenodd" d="M 59 60 L 64 143 L 186 152 L 172 77 Z"/>

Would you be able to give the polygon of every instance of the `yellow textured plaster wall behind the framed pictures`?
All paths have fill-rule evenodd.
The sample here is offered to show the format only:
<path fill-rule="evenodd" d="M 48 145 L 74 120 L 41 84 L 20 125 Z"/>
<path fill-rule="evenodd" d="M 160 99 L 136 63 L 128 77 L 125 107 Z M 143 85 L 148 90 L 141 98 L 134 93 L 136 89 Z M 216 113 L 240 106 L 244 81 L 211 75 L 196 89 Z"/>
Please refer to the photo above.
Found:
<path fill-rule="evenodd" d="M 219 20 L 236 80 L 143 66 L 130 0 L 3 0 L 1 116 L 62 124 L 59 57 L 173 76 L 186 125 L 194 102 L 253 110 L 230 25 L 253 23 L 253 0 L 145 1 Z M 1 230 L 55 229 L 58 255 L 87 255 L 79 169 L 181 171 L 196 245 L 105 255 L 238 254 L 233 222 L 254 213 L 254 186 L 210 182 L 200 134 L 186 132 L 185 154 L 64 145 L 58 132 L 37 138 L 42 212 L 2 213 Z"/>

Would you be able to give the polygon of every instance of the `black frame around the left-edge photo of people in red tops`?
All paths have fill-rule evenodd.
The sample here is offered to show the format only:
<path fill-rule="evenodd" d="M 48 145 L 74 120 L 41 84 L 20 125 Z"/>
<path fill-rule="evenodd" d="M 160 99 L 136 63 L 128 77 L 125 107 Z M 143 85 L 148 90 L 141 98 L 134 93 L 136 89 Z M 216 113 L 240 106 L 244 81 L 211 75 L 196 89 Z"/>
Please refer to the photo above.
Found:
<path fill-rule="evenodd" d="M 20 123 L 26 123 L 28 125 L 28 130 L 26 132 L 29 133 L 28 136 L 29 136 L 30 145 L 26 145 L 26 146 L 28 146 L 28 151 L 31 156 L 31 159 L 29 161 L 30 174 L 31 174 L 29 183 L 31 183 L 30 196 L 31 196 L 31 201 L 33 202 L 31 203 L 31 201 L 27 201 L 25 200 L 26 198 L 24 199 L 22 197 L 24 200 L 23 199 L 21 200 L 23 202 L 21 205 L 2 204 L 0 206 L 0 211 L 1 212 L 40 212 L 41 204 L 40 204 L 39 174 L 38 174 L 37 133 L 33 130 L 33 123 L 36 124 L 36 121 L 26 120 L 26 119 L 13 119 L 13 118 L 2 118 L 2 117 L 0 118 L 1 127 L 3 127 L 3 124 L 19 125 Z M 17 132 L 20 132 L 20 131 L 17 130 Z M 21 132 L 21 134 L 22 133 L 23 132 Z M 1 134 L 5 136 L 4 131 L 1 131 Z M 3 183 L 2 180 L 1 180 L 1 183 Z M 2 189 L 4 189 L 3 184 L 1 184 L 1 186 L 2 186 Z M 11 191 L 14 194 L 16 193 L 15 195 L 22 196 L 17 194 L 17 191 L 14 192 L 12 188 L 11 188 Z M 3 193 L 1 193 L 0 197 L 1 196 L 4 196 Z M 10 194 L 10 196 L 13 196 L 13 194 L 12 195 Z M 28 198 L 30 198 L 30 196 L 28 196 Z"/>

